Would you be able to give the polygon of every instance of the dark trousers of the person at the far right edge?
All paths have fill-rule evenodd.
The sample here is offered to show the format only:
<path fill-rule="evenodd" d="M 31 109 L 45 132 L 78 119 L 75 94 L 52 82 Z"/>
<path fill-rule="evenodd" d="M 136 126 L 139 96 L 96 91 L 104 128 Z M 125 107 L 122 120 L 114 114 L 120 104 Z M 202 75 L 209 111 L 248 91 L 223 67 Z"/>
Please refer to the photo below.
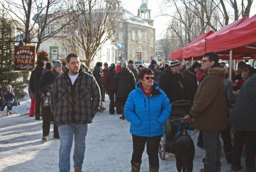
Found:
<path fill-rule="evenodd" d="M 232 148 L 232 166 L 241 165 L 243 145 L 247 139 L 246 166 L 255 167 L 256 131 L 235 131 L 235 140 Z"/>

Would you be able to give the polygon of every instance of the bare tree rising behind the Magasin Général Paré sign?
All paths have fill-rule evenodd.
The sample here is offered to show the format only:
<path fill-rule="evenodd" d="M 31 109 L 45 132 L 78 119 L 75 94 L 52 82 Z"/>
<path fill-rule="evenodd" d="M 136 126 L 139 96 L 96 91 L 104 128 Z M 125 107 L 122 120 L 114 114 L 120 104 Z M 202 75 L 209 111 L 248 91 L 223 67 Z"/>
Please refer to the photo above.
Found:
<path fill-rule="evenodd" d="M 29 43 L 32 40 L 37 40 L 36 51 L 43 41 L 61 32 L 63 27 L 70 22 L 69 18 L 66 18 L 69 11 L 65 9 L 66 6 L 62 5 L 63 1 L 47 0 L 43 1 L 44 3 L 39 2 L 39 0 L 20 0 L 17 3 L 15 0 L 9 0 L 7 1 L 7 7 L 5 7 L 10 17 L 25 26 L 24 42 Z M 20 13 L 17 13 L 17 11 L 20 11 Z M 61 21 L 62 24 L 51 30 L 52 32 L 49 34 L 44 34 L 47 27 L 54 25 L 56 21 Z"/>

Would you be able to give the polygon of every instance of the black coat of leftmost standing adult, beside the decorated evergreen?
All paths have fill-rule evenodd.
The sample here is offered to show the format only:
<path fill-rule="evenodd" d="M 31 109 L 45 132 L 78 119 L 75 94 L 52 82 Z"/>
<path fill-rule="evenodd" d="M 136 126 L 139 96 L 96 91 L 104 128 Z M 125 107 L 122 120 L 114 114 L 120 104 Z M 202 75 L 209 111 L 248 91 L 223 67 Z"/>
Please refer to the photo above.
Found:
<path fill-rule="evenodd" d="M 40 96 L 39 85 L 40 85 L 40 79 L 41 79 L 42 75 L 43 75 L 43 67 L 37 66 L 31 72 L 31 76 L 29 79 L 29 87 L 35 96 Z"/>

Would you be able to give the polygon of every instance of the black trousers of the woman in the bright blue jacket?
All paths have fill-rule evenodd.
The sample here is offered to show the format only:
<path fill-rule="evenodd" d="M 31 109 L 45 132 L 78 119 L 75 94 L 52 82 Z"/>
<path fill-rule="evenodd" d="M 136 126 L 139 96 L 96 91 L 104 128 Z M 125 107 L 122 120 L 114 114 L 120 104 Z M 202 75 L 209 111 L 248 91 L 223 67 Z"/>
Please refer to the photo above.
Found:
<path fill-rule="evenodd" d="M 131 161 L 135 163 L 141 162 L 142 153 L 146 144 L 146 153 L 148 153 L 149 165 L 155 167 L 159 166 L 158 148 L 161 136 L 143 137 L 133 135 L 133 155 Z"/>

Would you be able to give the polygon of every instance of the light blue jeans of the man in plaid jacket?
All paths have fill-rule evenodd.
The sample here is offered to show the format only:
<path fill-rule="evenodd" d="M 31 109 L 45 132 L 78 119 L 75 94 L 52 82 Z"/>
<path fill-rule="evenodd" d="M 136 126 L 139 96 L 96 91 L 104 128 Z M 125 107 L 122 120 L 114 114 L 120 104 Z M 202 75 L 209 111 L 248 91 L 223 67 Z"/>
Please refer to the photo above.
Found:
<path fill-rule="evenodd" d="M 85 136 L 87 124 L 70 124 L 59 126 L 59 172 L 70 171 L 70 151 L 74 136 L 74 168 L 82 169 L 85 153 Z"/>

